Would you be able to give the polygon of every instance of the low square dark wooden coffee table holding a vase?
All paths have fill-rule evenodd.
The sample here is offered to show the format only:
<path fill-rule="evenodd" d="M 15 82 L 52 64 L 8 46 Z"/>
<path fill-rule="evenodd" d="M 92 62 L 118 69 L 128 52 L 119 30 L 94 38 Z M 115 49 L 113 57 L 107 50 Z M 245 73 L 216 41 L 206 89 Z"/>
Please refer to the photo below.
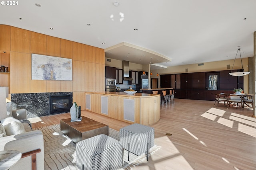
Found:
<path fill-rule="evenodd" d="M 74 143 L 100 134 L 108 135 L 108 125 L 88 117 L 81 117 L 82 121 L 71 122 L 70 118 L 60 120 L 60 130 L 70 137 Z"/>

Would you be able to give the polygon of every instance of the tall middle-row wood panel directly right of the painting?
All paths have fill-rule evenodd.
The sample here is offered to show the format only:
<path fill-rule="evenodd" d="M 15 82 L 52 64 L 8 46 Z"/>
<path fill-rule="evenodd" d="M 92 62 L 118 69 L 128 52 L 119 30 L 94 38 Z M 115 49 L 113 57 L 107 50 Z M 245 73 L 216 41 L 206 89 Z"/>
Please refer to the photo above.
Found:
<path fill-rule="evenodd" d="M 72 62 L 73 67 L 73 91 L 80 92 L 85 91 L 85 67 L 84 62 L 74 61 Z"/>

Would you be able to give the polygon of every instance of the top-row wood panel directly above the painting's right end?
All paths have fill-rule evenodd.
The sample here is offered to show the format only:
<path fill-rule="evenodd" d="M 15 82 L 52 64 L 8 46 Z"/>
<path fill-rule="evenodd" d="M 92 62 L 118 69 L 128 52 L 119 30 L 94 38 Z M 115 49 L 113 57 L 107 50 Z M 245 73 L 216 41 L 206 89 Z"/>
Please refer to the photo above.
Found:
<path fill-rule="evenodd" d="M 60 57 L 73 58 L 73 42 L 66 39 L 60 39 Z"/>

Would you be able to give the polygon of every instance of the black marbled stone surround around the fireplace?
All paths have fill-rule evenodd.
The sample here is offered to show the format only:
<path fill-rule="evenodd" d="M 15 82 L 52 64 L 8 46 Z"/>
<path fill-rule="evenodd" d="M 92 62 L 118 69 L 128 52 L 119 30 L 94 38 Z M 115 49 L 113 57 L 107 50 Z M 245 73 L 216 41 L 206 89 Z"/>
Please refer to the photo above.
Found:
<path fill-rule="evenodd" d="M 26 109 L 28 111 L 27 118 L 47 116 L 50 115 L 49 96 L 61 95 L 71 95 L 73 103 L 72 92 L 11 94 L 11 109 Z"/>

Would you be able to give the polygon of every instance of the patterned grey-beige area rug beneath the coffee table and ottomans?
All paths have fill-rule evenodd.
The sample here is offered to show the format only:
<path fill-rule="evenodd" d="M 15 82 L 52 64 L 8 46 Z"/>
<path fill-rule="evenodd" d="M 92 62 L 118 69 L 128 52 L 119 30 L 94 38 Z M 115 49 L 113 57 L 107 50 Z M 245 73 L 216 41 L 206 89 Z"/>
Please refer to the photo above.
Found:
<path fill-rule="evenodd" d="M 60 124 L 35 128 L 44 135 L 44 169 L 45 170 L 79 170 L 76 167 L 76 145 L 60 131 Z M 119 131 L 109 128 L 109 136 L 119 141 Z M 149 156 L 161 147 L 154 145 L 149 151 Z M 139 164 L 146 162 L 146 154 L 136 156 L 124 150 L 122 168 L 118 170 L 132 170 Z"/>

